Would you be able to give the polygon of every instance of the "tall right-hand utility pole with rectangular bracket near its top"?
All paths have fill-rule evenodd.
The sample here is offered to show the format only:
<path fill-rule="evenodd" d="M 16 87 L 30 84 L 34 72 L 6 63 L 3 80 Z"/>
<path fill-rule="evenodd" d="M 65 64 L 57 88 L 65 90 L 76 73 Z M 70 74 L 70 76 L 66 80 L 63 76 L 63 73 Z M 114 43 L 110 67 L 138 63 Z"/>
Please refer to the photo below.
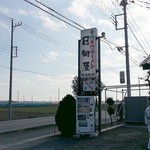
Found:
<path fill-rule="evenodd" d="M 127 79 L 127 96 L 131 97 L 131 83 L 130 83 L 130 64 L 129 64 L 129 45 L 128 45 L 128 23 L 127 23 L 127 11 L 126 6 L 128 2 L 127 0 L 122 0 L 120 5 L 123 7 L 123 14 L 116 15 L 117 16 L 124 16 L 124 27 L 117 28 L 117 21 L 116 21 L 116 30 L 124 29 L 125 34 L 125 57 L 126 57 L 126 79 Z"/>

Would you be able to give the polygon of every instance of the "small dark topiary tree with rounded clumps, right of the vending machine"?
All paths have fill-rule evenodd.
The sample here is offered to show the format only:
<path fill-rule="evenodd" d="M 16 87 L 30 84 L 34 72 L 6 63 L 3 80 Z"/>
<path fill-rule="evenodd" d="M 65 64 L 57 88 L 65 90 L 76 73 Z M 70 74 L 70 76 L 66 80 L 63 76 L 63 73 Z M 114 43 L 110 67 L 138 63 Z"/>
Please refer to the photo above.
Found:
<path fill-rule="evenodd" d="M 109 97 L 109 98 L 107 98 L 106 103 L 108 104 L 107 112 L 110 116 L 110 121 L 111 121 L 111 124 L 112 124 L 112 122 L 113 122 L 112 121 L 112 115 L 115 114 L 115 110 L 113 108 L 113 105 L 114 105 L 115 101 L 113 100 L 113 98 Z"/>

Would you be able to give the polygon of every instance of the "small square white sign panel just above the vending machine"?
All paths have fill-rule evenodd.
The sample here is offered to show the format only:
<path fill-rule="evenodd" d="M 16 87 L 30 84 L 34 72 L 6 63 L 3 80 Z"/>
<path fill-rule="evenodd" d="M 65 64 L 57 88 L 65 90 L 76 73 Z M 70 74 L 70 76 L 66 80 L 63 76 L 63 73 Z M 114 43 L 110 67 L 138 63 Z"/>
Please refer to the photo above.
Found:
<path fill-rule="evenodd" d="M 83 79 L 83 91 L 95 91 L 95 79 Z"/>

